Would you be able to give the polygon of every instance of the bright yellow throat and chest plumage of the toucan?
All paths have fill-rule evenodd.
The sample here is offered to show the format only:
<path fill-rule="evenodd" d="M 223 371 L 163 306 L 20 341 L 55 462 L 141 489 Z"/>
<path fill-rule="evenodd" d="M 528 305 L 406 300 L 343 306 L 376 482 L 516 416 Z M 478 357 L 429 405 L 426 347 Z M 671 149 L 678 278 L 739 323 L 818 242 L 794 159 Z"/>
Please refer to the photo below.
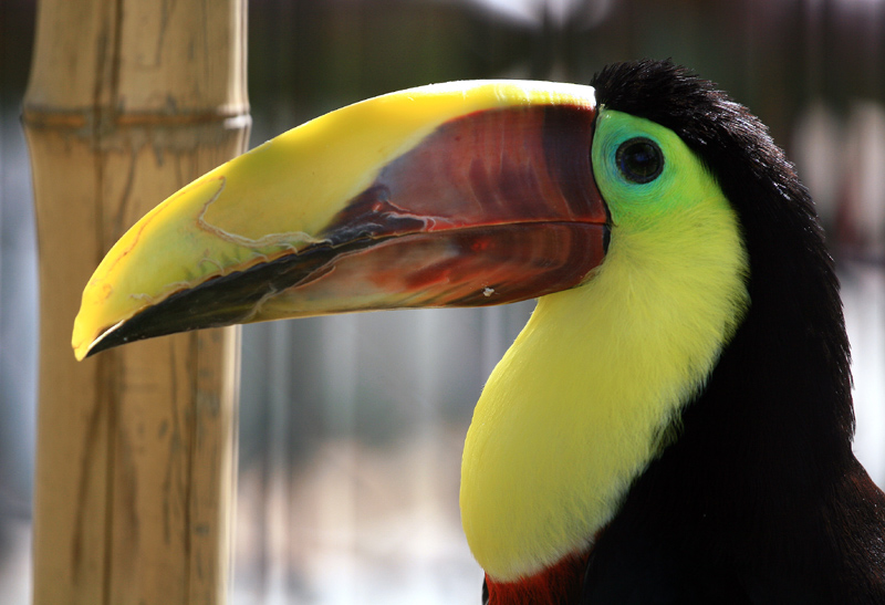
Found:
<path fill-rule="evenodd" d="M 738 220 L 715 185 L 654 228 L 615 227 L 580 288 L 544 296 L 467 435 L 461 518 L 501 582 L 589 546 L 748 304 Z"/>

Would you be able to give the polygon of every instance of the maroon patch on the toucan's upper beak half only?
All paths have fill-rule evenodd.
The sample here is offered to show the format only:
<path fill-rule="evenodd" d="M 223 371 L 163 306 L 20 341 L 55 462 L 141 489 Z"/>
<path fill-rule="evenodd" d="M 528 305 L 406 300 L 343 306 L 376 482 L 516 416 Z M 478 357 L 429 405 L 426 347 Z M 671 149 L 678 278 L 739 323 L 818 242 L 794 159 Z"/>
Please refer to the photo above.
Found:
<path fill-rule="evenodd" d="M 448 122 L 386 166 L 325 237 L 363 237 L 527 222 L 606 221 L 590 148 L 595 112 L 530 106 Z"/>

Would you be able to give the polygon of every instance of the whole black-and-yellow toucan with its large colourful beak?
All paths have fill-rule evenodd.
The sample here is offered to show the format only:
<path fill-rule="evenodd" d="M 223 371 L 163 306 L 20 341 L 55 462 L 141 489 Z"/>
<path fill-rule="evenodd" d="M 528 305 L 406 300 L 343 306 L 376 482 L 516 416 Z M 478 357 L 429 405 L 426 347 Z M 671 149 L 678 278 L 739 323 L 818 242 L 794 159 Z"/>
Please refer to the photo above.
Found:
<path fill-rule="evenodd" d="M 813 202 L 670 61 L 421 86 L 282 134 L 123 236 L 73 347 L 532 298 L 464 450 L 483 603 L 885 603 Z"/>

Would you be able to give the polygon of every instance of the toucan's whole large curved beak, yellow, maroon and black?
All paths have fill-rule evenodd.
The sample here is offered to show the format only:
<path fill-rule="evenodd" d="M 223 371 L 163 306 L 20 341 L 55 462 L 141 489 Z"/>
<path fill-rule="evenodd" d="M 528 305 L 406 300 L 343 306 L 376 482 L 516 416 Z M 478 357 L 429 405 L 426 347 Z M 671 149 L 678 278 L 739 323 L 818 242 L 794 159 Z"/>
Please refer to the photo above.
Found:
<path fill-rule="evenodd" d="M 191 182 L 83 292 L 79 359 L 199 327 L 572 288 L 603 259 L 593 88 L 458 82 L 339 109 Z"/>

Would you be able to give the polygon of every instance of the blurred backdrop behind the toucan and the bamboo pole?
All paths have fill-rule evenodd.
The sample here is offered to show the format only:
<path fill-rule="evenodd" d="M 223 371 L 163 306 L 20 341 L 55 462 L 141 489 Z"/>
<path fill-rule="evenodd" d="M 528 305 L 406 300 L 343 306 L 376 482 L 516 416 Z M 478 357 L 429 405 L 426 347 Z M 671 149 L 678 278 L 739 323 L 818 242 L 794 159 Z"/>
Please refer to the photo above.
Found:
<path fill-rule="evenodd" d="M 0 595 L 29 598 L 37 242 L 19 114 L 34 0 L 0 0 Z M 885 1 L 251 0 L 252 146 L 381 93 L 586 83 L 673 58 L 768 124 L 823 218 L 854 351 L 855 451 L 885 484 Z M 464 435 L 532 303 L 248 326 L 235 604 L 478 603 Z"/>

